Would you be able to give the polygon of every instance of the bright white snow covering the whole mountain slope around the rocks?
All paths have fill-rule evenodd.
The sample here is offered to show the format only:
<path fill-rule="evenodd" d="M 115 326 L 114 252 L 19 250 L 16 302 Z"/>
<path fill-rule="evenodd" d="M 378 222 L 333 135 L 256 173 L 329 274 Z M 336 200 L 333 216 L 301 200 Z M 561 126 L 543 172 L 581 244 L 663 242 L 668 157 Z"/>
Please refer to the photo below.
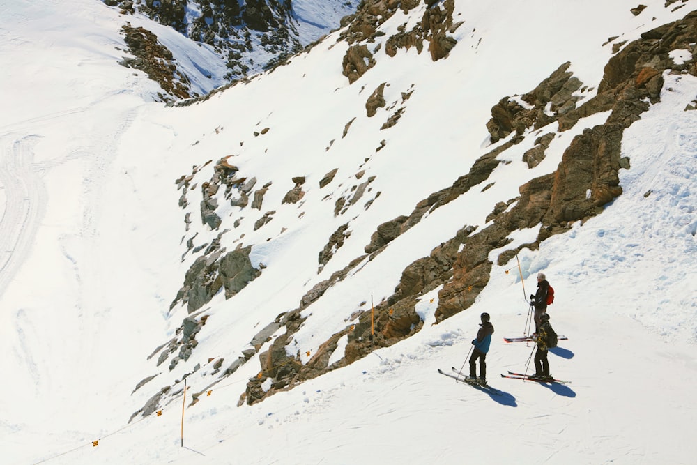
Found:
<path fill-rule="evenodd" d="M 504 101 L 526 109 L 523 94 L 567 61 L 581 107 L 601 95 L 623 47 L 697 3 L 649 1 L 634 12 L 624 0 L 392 3 L 390 16 L 360 19 L 377 24 L 370 36 L 337 31 L 286 66 L 183 107 L 153 103 L 157 86 L 118 66 L 123 17 L 100 2 L 65 11 L 65 2 L 16 2 L 3 13 L 3 463 L 691 463 L 697 112 L 687 109 L 697 105 L 697 40 L 666 51 L 684 73 L 659 73 L 659 98 L 638 104 L 645 111 L 621 139 L 622 194 L 602 213 L 532 250 L 521 246 L 539 225 L 512 231 L 484 257 L 487 284 L 466 310 L 441 319 L 450 282 L 424 289 L 411 337 L 345 362 L 352 347 L 365 349 L 351 331 L 369 321 L 372 302 L 390 321 L 406 268 L 466 226 L 486 229 L 492 211 L 512 211 L 521 186 L 558 176 L 574 140 L 612 116 L 492 143 L 492 107 L 512 96 Z M 443 43 L 457 43 L 444 57 L 434 61 L 429 42 L 392 54 L 427 10 L 450 7 Z M 194 56 L 185 42 L 179 50 L 178 60 Z M 353 82 L 351 53 L 372 65 Z M 196 56 L 192 68 L 214 66 Z M 530 167 L 523 155 L 546 132 L 544 159 Z M 484 181 L 367 254 L 381 224 L 411 215 L 497 148 Z M 212 188 L 221 179 L 229 190 Z M 217 229 L 202 212 L 215 213 Z M 340 246 L 330 242 L 337 231 Z M 464 256 L 471 246 L 455 248 Z M 232 296 L 233 279 L 210 298 L 201 298 L 210 283 L 178 296 L 197 259 L 235 250 L 247 250 L 253 280 Z M 515 254 L 499 262 L 510 250 L 520 268 Z M 526 370 L 533 347 L 501 338 L 523 333 L 539 271 L 556 289 L 551 322 L 569 337 L 550 356 L 553 374 L 572 381 L 564 386 L 497 378 Z M 464 365 L 484 311 L 500 396 L 436 372 Z M 318 354 L 337 369 L 297 385 L 268 366 L 285 358 L 302 373 Z M 252 395 L 266 397 L 249 405 Z"/>

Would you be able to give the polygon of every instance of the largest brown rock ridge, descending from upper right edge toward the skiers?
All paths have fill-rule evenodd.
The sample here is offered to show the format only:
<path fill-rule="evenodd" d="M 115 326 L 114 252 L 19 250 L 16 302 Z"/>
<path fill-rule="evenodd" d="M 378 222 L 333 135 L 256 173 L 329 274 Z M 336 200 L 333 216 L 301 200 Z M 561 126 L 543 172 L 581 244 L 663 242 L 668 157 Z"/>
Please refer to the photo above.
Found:
<path fill-rule="evenodd" d="M 648 101 L 659 98 L 662 73 L 691 72 L 673 68 L 668 52 L 685 47 L 697 52 L 696 24 L 697 12 L 689 13 L 683 20 L 643 34 L 641 40 L 613 56 L 605 68 L 597 97 L 574 110 L 587 115 L 611 109 L 606 123 L 575 137 L 555 173 L 521 186 L 515 206 L 494 215 L 493 225 L 470 238 L 454 264 L 452 282 L 439 293 L 437 319 L 450 317 L 471 305 L 482 284 L 488 281 L 486 268 L 491 264 L 485 259 L 486 254 L 503 247 L 510 231 L 542 223 L 537 240 L 521 246 L 534 250 L 549 236 L 567 230 L 570 223 L 602 213 L 608 202 L 621 195 L 618 171 L 622 166 L 628 167 L 627 162 L 620 160 L 623 132 L 649 108 Z M 658 72 L 648 72 L 647 68 Z M 569 127 L 568 121 L 575 122 L 577 118 L 568 119 L 565 124 L 560 121 L 560 130 Z M 499 263 L 506 263 L 515 252 L 503 252 Z"/>

